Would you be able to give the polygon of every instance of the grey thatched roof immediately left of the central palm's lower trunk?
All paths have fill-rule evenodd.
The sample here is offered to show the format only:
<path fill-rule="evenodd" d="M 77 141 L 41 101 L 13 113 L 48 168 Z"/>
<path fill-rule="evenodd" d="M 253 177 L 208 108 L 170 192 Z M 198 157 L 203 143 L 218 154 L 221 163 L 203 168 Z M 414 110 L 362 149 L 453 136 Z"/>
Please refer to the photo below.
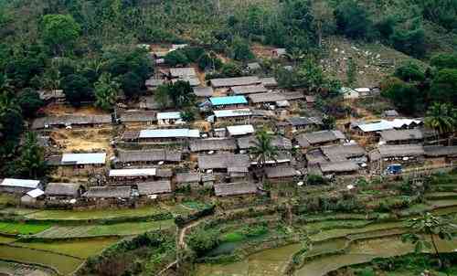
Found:
<path fill-rule="evenodd" d="M 198 156 L 200 169 L 227 169 L 228 167 L 250 166 L 247 154 L 215 154 Z"/>

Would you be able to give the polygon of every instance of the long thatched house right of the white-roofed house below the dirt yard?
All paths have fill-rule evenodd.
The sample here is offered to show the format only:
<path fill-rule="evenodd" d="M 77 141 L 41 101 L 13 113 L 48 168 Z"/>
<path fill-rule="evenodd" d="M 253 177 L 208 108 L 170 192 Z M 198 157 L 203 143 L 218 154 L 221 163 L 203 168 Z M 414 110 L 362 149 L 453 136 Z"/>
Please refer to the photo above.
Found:
<path fill-rule="evenodd" d="M 182 160 L 182 152 L 165 149 L 119 151 L 113 164 L 115 167 L 163 165 L 165 163 L 179 163 Z"/>

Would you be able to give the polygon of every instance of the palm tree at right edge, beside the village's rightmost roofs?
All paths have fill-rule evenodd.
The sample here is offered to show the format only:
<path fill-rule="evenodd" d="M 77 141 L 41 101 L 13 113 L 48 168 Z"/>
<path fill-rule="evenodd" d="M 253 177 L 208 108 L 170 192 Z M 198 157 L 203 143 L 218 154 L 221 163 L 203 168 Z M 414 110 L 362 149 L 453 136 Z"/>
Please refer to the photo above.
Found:
<path fill-rule="evenodd" d="M 427 111 L 424 124 L 439 135 L 452 133 L 457 124 L 456 112 L 447 103 L 435 102 Z"/>

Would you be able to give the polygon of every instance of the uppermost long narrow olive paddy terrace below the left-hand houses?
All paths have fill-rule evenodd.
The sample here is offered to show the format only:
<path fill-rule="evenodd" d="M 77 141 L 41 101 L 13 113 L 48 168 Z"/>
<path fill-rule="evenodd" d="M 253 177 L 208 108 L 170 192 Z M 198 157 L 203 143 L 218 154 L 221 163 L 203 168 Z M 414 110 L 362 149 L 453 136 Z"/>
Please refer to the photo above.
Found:
<path fill-rule="evenodd" d="M 145 217 L 164 213 L 160 207 L 140 207 L 133 209 L 100 209 L 100 210 L 42 210 L 26 215 L 26 218 L 34 219 L 101 219 L 101 218 L 134 218 Z"/>

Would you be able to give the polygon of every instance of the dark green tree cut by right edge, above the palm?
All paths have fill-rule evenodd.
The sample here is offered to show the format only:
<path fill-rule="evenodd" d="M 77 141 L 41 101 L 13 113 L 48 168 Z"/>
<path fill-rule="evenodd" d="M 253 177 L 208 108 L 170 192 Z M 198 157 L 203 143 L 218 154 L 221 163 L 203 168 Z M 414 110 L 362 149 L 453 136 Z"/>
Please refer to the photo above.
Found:
<path fill-rule="evenodd" d="M 457 69 L 441 69 L 431 82 L 430 98 L 457 105 Z"/>

